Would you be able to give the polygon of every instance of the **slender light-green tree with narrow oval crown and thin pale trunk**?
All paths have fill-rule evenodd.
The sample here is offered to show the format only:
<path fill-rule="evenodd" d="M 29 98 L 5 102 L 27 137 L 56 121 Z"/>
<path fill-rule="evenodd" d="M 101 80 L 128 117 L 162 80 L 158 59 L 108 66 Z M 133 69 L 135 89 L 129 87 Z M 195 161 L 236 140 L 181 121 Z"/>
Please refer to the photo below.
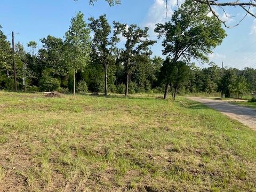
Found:
<path fill-rule="evenodd" d="M 91 30 L 84 21 L 84 14 L 79 12 L 71 19 L 71 26 L 65 34 L 65 55 L 70 69 L 74 70 L 74 89 L 76 94 L 76 72 L 83 70 L 90 61 Z"/>

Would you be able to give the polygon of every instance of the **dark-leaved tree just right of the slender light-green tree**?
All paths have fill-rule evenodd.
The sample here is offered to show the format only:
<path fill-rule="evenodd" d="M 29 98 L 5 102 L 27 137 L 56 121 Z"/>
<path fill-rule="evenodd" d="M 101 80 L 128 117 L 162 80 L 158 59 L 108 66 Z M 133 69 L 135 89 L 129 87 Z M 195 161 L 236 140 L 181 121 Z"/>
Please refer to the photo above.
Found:
<path fill-rule="evenodd" d="M 89 18 L 91 23 L 89 26 L 94 32 L 92 53 L 101 63 L 105 74 L 105 96 L 108 95 L 108 66 L 114 63 L 113 52 L 116 49 L 116 44 L 119 42 L 118 34 L 120 33 L 117 23 L 114 24 L 114 33 L 111 34 L 111 26 L 108 23 L 106 15 L 101 15 L 99 19 Z"/>

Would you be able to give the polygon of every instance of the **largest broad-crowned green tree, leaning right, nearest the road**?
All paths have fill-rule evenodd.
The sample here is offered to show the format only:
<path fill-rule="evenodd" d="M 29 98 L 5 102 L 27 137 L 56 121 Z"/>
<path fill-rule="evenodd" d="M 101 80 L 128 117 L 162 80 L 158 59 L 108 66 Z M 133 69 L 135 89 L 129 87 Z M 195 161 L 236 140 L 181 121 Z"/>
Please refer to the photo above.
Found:
<path fill-rule="evenodd" d="M 206 55 L 226 37 L 221 22 L 207 13 L 207 5 L 187 0 L 174 11 L 171 21 L 157 24 L 155 32 L 159 39 L 163 38 L 163 54 L 171 57 L 172 62 L 179 59 L 208 61 Z M 166 83 L 165 98 L 168 86 Z"/>

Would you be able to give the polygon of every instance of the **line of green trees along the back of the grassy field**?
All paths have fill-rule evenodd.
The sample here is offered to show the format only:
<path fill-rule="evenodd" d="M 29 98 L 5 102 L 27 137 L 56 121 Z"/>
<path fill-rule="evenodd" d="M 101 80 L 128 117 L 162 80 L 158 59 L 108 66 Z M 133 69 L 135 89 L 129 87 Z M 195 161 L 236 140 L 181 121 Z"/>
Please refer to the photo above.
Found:
<path fill-rule="evenodd" d="M 156 41 L 150 40 L 147 27 L 116 21 L 110 24 L 106 15 L 91 17 L 86 22 L 79 12 L 71 19 L 63 38 L 44 37 L 40 39 L 41 49 L 30 41 L 27 51 L 17 43 L 15 54 L 0 30 L 0 89 L 13 90 L 14 60 L 18 89 L 22 91 L 74 94 L 90 91 L 103 92 L 106 96 L 109 92 L 127 96 L 136 92 L 164 91 L 164 98 L 171 92 L 174 99 L 179 91 L 222 91 L 230 96 L 238 90 L 234 79 L 226 77 L 230 71 L 234 71 L 233 76 L 243 78 L 236 79 L 245 82 L 239 86 L 246 85 L 246 91 L 255 90 L 254 80 L 250 80 L 255 77 L 253 69 L 250 73 L 254 75 L 250 77 L 245 75 L 247 72 L 225 69 L 225 76 L 217 78 L 214 74 L 220 68 L 216 65 L 199 69 L 193 64 L 193 60 L 209 62 L 207 55 L 226 37 L 221 22 L 207 14 L 209 11 L 209 6 L 188 0 L 174 11 L 171 21 L 156 25 L 155 32 L 162 41 L 166 59 L 153 57 L 150 48 Z M 209 75 L 205 74 L 209 70 L 212 75 L 208 82 L 202 78 Z"/>

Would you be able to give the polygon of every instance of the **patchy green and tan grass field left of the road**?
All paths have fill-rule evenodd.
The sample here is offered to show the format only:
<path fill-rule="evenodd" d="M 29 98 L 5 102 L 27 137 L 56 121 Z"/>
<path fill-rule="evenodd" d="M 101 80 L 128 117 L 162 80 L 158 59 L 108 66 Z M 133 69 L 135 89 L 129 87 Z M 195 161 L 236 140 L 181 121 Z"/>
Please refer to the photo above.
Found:
<path fill-rule="evenodd" d="M 255 191 L 256 132 L 179 97 L 0 92 L 0 191 Z"/>

